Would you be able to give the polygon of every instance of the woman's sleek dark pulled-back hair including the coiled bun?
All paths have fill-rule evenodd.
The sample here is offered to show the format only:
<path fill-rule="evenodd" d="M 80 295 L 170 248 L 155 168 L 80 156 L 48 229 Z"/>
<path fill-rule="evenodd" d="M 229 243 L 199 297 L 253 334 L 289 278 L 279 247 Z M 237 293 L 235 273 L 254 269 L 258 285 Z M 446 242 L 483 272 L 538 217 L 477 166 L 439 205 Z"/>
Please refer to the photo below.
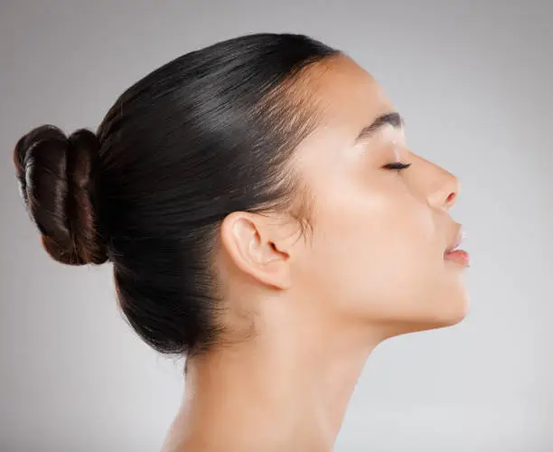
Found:
<path fill-rule="evenodd" d="M 305 220 L 308 190 L 290 164 L 317 122 L 305 80 L 340 53 L 304 35 L 241 36 L 139 80 L 97 134 L 33 129 L 14 163 L 45 250 L 71 265 L 112 261 L 119 304 L 155 350 L 219 344 L 220 222 L 271 210 Z"/>

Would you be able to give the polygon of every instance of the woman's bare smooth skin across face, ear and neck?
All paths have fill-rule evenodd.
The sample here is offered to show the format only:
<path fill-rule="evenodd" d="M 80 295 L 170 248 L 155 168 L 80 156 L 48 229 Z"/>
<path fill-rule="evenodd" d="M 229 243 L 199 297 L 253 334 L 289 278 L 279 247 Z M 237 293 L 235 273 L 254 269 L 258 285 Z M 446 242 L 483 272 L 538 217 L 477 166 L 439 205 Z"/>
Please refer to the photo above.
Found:
<path fill-rule="evenodd" d="M 189 360 L 164 451 L 331 451 L 372 350 L 467 314 L 464 268 L 444 259 L 459 232 L 448 213 L 457 179 L 411 153 L 402 126 L 356 141 L 395 108 L 355 61 L 311 71 L 322 120 L 294 167 L 314 197 L 313 229 L 302 236 L 277 213 L 222 222 L 225 322 L 255 335 Z M 412 165 L 384 168 L 398 161 Z"/>

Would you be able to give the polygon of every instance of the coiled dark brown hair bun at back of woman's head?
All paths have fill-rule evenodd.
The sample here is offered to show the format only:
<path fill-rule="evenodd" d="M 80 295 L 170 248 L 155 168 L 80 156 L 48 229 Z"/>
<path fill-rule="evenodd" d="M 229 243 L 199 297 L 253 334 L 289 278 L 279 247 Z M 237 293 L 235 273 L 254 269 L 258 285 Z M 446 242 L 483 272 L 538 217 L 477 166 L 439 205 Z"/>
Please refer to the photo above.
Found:
<path fill-rule="evenodd" d="M 36 127 L 14 149 L 20 192 L 42 233 L 44 249 L 64 264 L 108 259 L 98 233 L 94 174 L 96 135 L 80 129 L 66 137 L 54 126 Z"/>

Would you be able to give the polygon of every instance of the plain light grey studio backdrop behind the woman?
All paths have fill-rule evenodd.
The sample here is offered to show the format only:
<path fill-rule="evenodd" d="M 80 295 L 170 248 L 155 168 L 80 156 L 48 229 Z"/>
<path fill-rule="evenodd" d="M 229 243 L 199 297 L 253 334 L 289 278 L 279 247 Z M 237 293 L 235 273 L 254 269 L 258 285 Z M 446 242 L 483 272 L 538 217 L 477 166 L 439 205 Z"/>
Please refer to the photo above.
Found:
<path fill-rule="evenodd" d="M 42 251 L 15 141 L 43 123 L 96 127 L 160 64 L 265 31 L 349 52 L 412 149 L 462 183 L 471 312 L 375 350 L 335 450 L 553 450 L 553 3 L 361 0 L 0 3 L 0 450 L 156 451 L 183 391 L 183 363 L 119 315 L 110 265 Z"/>

